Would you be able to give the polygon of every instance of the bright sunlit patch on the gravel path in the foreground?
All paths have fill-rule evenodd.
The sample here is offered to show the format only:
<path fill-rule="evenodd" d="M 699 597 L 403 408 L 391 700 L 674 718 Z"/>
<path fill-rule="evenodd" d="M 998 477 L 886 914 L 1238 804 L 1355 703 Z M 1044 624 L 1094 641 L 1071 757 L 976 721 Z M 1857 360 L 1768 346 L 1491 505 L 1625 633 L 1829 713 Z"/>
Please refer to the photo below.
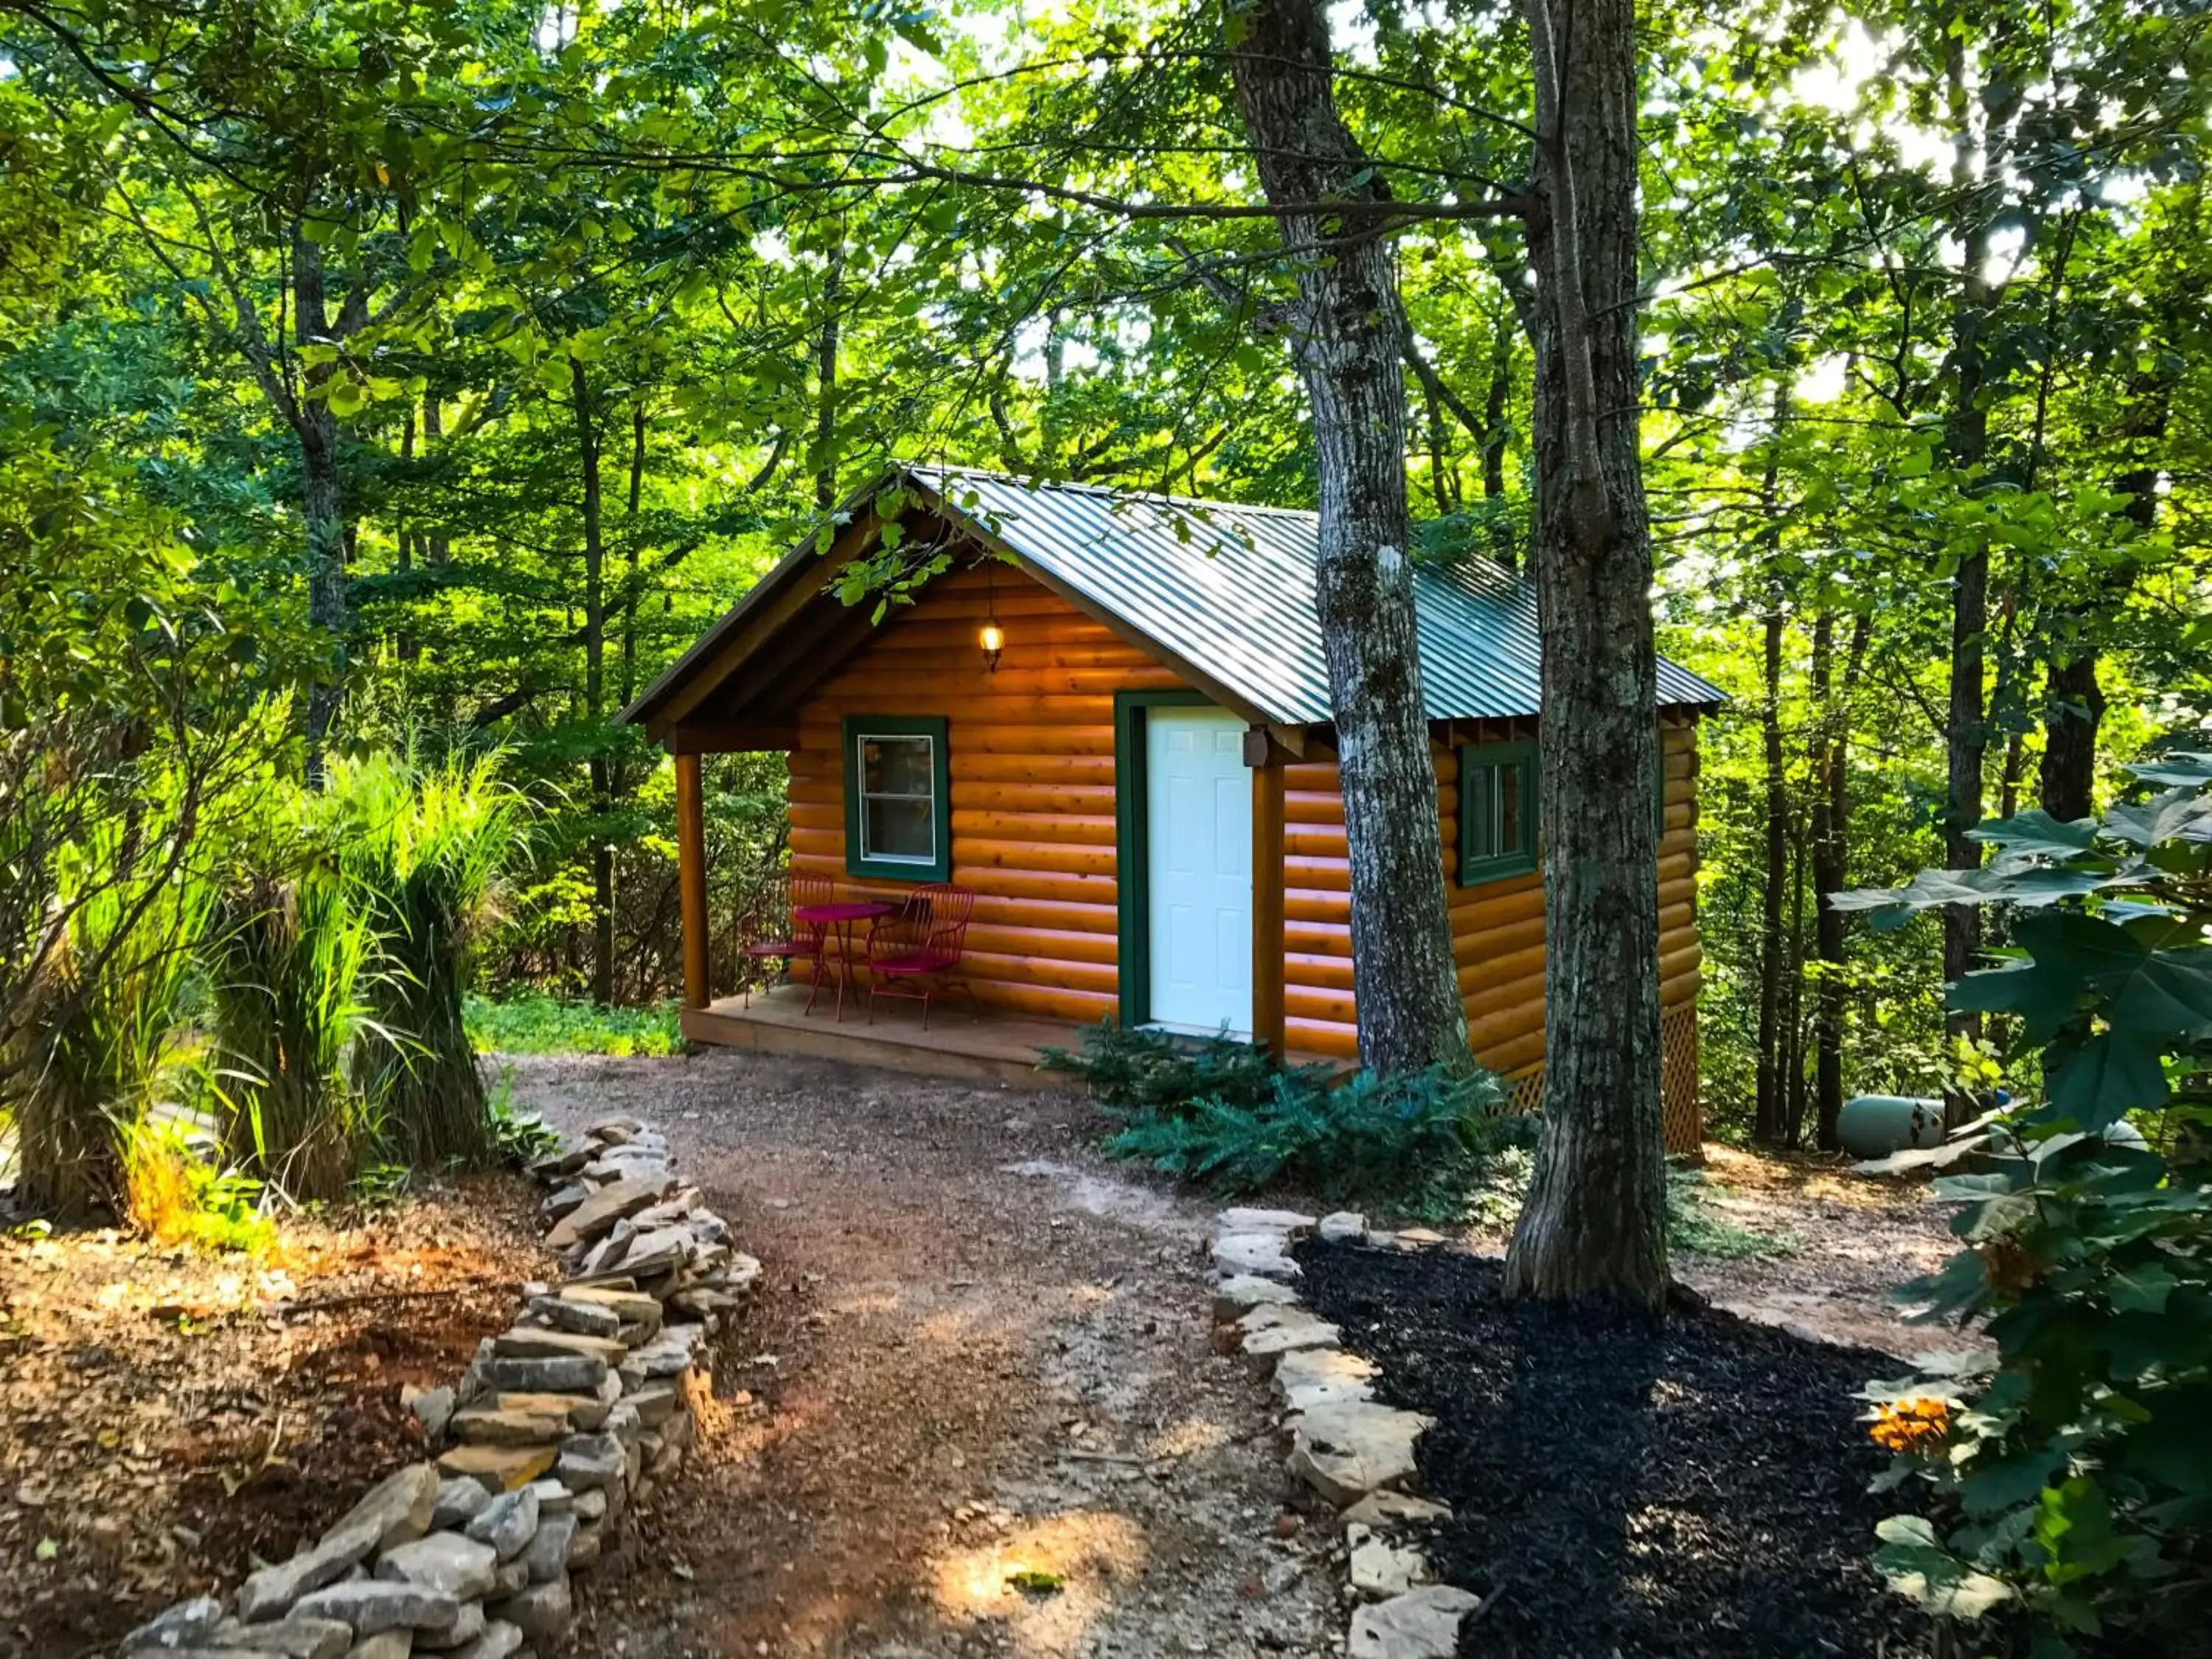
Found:
<path fill-rule="evenodd" d="M 956 1624 L 1000 1624 L 1015 1652 L 1073 1655 L 1113 1604 L 1115 1584 L 1133 1582 L 1148 1553 L 1128 1515 L 1071 1509 L 940 1557 L 936 1601 Z M 1018 1588 L 1024 1575 L 1033 1588 Z"/>

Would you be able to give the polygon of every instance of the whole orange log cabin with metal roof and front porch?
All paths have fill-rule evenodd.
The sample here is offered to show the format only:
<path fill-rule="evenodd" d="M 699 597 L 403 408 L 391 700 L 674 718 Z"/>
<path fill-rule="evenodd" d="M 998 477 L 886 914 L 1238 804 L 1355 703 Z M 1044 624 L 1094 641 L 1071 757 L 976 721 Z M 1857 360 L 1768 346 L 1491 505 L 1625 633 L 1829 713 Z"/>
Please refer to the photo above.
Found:
<path fill-rule="evenodd" d="M 896 526 L 896 529 L 891 529 Z M 1031 1075 L 1119 1020 L 1349 1060 L 1345 814 L 1314 615 L 1316 515 L 902 467 L 787 553 L 626 712 L 675 754 L 684 1031 L 695 1042 Z M 918 577 L 878 619 L 854 560 Z M 1438 858 L 1475 1060 L 1544 1064 L 1533 588 L 1473 557 L 1413 577 Z M 1659 664 L 1659 973 L 1670 1150 L 1697 1150 L 1697 721 Z M 699 757 L 779 750 L 790 865 L 854 898 L 975 894 L 931 1022 L 714 1000 Z M 832 940 L 834 942 L 834 940 Z"/>

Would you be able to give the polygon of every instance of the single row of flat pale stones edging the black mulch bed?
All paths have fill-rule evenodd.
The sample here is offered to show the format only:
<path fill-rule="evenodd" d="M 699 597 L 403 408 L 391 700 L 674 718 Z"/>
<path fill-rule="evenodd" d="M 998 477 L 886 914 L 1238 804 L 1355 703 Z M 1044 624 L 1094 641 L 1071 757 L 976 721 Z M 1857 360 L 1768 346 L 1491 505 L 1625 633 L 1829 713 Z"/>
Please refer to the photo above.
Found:
<path fill-rule="evenodd" d="M 1427 1250 L 1442 1234 L 1376 1232 L 1340 1210 L 1318 1221 L 1296 1210 L 1223 1210 L 1214 1228 L 1214 1318 L 1230 1343 L 1274 1378 L 1290 1436 L 1290 1471 L 1325 1498 L 1345 1526 L 1345 1573 L 1358 1604 L 1345 1635 L 1349 1659 L 1451 1659 L 1475 1597 L 1433 1584 L 1422 1535 L 1449 1520 L 1444 1504 L 1411 1491 L 1413 1444 L 1436 1427 L 1418 1411 L 1374 1398 L 1376 1367 L 1345 1352 L 1336 1325 L 1298 1296 L 1292 1245 L 1307 1232 L 1336 1243 Z"/>

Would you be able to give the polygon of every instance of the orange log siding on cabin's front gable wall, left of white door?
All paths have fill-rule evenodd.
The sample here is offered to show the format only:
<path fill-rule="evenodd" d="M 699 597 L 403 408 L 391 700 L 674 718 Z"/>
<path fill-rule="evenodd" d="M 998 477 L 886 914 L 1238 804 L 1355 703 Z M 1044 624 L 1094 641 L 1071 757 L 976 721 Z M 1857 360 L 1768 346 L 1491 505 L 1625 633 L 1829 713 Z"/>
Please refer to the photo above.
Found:
<path fill-rule="evenodd" d="M 1018 571 L 940 575 L 801 703 L 792 750 L 792 867 L 896 898 L 905 883 L 845 874 L 845 714 L 945 714 L 951 878 L 975 889 L 967 982 L 975 1000 L 1095 1022 L 1119 995 L 1113 695 L 1177 677 Z M 1006 628 L 998 672 L 975 630 Z M 858 940 L 856 940 L 858 942 Z"/>

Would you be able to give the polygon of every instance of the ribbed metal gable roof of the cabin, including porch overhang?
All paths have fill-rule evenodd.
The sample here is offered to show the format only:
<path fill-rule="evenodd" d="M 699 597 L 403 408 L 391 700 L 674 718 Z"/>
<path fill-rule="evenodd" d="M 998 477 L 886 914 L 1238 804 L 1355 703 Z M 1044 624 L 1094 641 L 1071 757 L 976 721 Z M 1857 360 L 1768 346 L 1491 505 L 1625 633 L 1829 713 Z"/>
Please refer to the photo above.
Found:
<path fill-rule="evenodd" d="M 1155 657 L 1194 690 L 1303 748 L 1327 726 L 1310 511 L 1031 484 L 1000 473 L 896 467 L 832 513 L 684 653 L 622 719 L 684 750 L 787 748 L 807 690 L 874 630 L 872 606 L 832 584 L 887 520 L 933 520 Z M 1431 721 L 1533 717 L 1542 655 L 1535 591 L 1491 564 L 1413 566 L 1422 701 Z M 1659 661 L 1659 706 L 1717 708 L 1712 684 Z"/>

